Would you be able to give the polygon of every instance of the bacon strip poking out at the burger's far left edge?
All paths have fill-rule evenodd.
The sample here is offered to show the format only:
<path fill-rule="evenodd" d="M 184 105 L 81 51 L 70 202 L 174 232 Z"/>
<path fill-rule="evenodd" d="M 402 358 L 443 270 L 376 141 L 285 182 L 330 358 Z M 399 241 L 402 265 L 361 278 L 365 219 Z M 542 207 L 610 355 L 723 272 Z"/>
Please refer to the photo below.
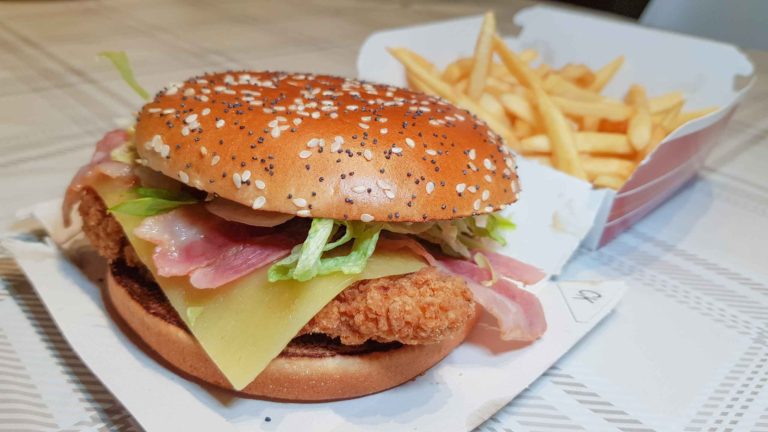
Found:
<path fill-rule="evenodd" d="M 105 174 L 112 178 L 125 177 L 133 179 L 129 165 L 112 161 L 109 157 L 112 150 L 120 147 L 128 141 L 128 138 L 128 132 L 123 129 L 116 129 L 107 132 L 96 143 L 96 149 L 93 151 L 91 161 L 77 171 L 64 194 L 61 212 L 65 226 L 69 226 L 72 223 L 72 208 L 80 201 L 80 191 L 88 185 L 96 174 Z"/>

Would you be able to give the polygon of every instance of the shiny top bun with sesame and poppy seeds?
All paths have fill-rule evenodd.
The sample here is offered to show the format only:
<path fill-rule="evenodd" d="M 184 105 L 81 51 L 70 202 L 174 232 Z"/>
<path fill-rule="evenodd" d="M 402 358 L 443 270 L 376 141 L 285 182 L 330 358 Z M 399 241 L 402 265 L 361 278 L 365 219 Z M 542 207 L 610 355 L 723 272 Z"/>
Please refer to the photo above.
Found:
<path fill-rule="evenodd" d="M 138 115 L 143 162 L 253 208 L 425 221 L 517 200 L 515 160 L 468 111 L 325 75 L 225 72 L 173 84 Z"/>

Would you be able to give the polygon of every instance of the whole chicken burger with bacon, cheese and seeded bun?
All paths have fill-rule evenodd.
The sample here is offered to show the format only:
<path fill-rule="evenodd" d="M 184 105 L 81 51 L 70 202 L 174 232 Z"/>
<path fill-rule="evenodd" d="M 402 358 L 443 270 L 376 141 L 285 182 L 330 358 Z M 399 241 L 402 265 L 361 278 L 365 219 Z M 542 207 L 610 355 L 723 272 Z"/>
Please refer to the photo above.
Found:
<path fill-rule="evenodd" d="M 107 133 L 64 200 L 108 262 L 104 300 L 183 376 L 321 401 L 414 379 L 489 313 L 546 329 L 494 252 L 514 155 L 470 112 L 325 75 L 231 71 L 157 93 Z"/>

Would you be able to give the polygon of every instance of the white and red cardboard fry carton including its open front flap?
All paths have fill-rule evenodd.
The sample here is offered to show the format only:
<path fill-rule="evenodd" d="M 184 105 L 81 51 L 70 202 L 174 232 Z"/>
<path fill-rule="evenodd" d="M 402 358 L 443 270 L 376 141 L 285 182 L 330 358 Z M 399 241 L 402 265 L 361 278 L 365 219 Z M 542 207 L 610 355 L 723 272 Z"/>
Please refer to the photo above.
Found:
<path fill-rule="evenodd" d="M 754 82 L 754 66 L 732 45 L 546 6 L 524 9 L 514 21 L 521 31 L 516 37 L 505 38 L 510 47 L 534 48 L 540 52 L 541 61 L 554 67 L 577 62 L 596 69 L 624 55 L 624 66 L 605 89 L 608 96 L 623 98 L 631 84 L 642 83 L 650 95 L 681 90 L 687 109 L 719 107 L 674 131 L 639 165 L 618 193 L 619 198 L 622 193 L 638 195 L 629 200 L 636 210 L 630 210 L 623 223 L 642 217 L 695 174 L 715 142 L 709 138 L 722 129 Z M 472 55 L 481 23 L 482 16 L 473 16 L 374 33 L 360 50 L 358 75 L 364 80 L 405 86 L 404 68 L 387 52 L 388 47 L 410 48 L 442 68 Z M 688 140 L 687 151 L 671 148 L 680 147 L 673 142 L 679 139 Z M 677 163 L 678 159 L 688 162 L 681 167 L 665 163 Z M 523 192 L 520 202 L 509 210 L 518 228 L 510 235 L 504 252 L 556 275 L 579 245 L 572 240 L 585 238 L 583 229 L 589 231 L 593 225 L 584 244 L 598 246 L 607 224 L 616 216 L 617 193 L 591 190 L 587 183 L 551 168 L 522 157 L 518 161 Z M 660 178 L 669 179 L 659 182 Z M 654 182 L 659 184 L 646 188 L 645 193 L 637 191 Z M 619 201 L 620 210 L 624 210 L 624 202 Z M 570 234 L 567 238 L 564 227 Z"/>

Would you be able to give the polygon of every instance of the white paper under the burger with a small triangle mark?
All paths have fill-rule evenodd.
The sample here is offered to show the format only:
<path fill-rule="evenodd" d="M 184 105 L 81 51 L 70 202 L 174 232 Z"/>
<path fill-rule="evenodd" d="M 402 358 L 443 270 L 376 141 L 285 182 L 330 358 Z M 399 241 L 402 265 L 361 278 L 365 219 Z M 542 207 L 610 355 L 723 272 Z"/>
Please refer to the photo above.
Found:
<path fill-rule="evenodd" d="M 40 204 L 32 213 L 51 238 L 77 244 L 73 232 L 61 227 L 59 202 Z M 578 242 L 570 236 L 568 241 Z M 233 398 L 165 369 L 114 324 L 99 287 L 52 241 L 6 239 L 3 246 L 16 257 L 82 360 L 150 431 L 469 430 L 567 352 L 613 309 L 625 290 L 619 282 L 543 283 L 536 292 L 549 329 L 529 346 L 501 342 L 492 323 L 483 319 L 467 342 L 405 385 L 349 401 L 275 403 Z M 72 256 L 77 260 L 79 255 Z M 93 263 L 92 258 L 83 262 Z"/>

